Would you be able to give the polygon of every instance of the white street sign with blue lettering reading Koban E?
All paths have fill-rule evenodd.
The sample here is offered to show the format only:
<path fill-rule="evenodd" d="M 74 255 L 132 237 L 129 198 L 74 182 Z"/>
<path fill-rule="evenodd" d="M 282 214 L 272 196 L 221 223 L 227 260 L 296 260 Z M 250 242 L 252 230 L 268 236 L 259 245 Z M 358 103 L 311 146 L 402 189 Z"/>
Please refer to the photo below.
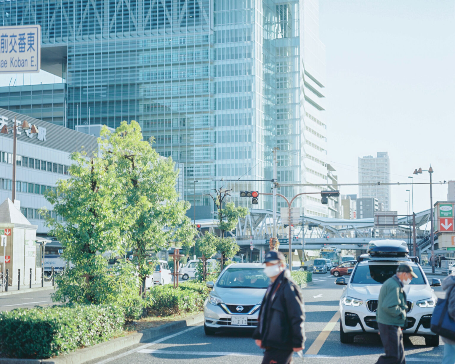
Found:
<path fill-rule="evenodd" d="M 0 26 L 0 74 L 40 71 L 41 26 Z"/>

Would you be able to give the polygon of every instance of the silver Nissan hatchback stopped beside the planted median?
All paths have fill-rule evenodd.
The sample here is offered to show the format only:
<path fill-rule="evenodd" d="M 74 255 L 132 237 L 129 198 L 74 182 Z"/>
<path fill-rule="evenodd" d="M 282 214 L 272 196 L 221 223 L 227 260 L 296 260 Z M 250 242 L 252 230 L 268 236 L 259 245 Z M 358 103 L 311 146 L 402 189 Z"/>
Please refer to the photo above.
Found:
<path fill-rule="evenodd" d="M 204 303 L 204 331 L 213 335 L 228 329 L 254 329 L 269 284 L 260 263 L 234 263 L 225 268 Z"/>

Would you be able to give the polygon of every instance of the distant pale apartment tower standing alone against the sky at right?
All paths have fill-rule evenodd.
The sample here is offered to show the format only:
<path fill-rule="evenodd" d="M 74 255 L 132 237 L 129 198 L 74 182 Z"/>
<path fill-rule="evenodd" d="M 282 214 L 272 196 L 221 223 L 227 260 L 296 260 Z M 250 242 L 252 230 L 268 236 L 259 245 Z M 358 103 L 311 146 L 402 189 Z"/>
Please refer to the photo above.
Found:
<path fill-rule="evenodd" d="M 378 184 L 378 182 L 382 184 Z M 375 197 L 390 210 L 390 160 L 387 152 L 378 152 L 377 157 L 359 157 L 359 198 Z M 363 183 L 371 183 L 364 186 Z M 357 210 L 359 212 L 359 210 Z"/>

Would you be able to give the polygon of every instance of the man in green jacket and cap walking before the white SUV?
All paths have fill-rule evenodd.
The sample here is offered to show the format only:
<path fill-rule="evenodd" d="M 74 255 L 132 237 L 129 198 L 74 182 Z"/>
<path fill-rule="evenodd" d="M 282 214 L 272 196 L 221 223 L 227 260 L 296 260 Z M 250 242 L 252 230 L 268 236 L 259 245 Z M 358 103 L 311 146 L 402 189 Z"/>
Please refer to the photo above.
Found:
<path fill-rule="evenodd" d="M 381 287 L 376 321 L 385 355 L 381 355 L 376 364 L 406 364 L 401 327 L 405 325 L 408 306 L 403 288 L 411 283 L 413 277 L 417 278 L 417 275 L 412 268 L 401 264 L 397 273 Z"/>

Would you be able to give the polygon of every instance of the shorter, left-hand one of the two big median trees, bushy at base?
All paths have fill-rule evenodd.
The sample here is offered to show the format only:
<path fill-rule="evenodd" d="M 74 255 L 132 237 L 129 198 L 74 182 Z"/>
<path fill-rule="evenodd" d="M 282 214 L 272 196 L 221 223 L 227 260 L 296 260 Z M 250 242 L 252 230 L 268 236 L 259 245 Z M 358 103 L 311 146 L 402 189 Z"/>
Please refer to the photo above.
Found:
<path fill-rule="evenodd" d="M 74 265 L 56 276 L 58 289 L 52 299 L 70 303 L 118 302 L 138 287 L 131 264 L 125 263 L 114 274 L 108 271 L 106 259 L 110 252 L 124 253 L 120 243 L 122 186 L 109 161 L 77 152 L 71 160 L 71 177 L 59 180 L 55 190 L 45 193 L 54 212 L 45 213 L 46 225 L 64 248 L 62 258 Z"/>

